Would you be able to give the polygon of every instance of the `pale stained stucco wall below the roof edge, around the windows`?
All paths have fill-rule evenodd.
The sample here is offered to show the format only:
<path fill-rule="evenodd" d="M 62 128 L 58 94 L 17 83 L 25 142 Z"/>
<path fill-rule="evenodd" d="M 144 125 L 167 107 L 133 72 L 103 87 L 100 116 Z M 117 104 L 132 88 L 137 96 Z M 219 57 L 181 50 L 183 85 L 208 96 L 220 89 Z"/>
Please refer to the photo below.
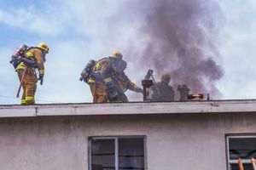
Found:
<path fill-rule="evenodd" d="M 2 117 L 0 165 L 87 170 L 88 137 L 146 135 L 148 170 L 224 170 L 225 133 L 256 133 L 255 122 L 251 111 Z"/>

